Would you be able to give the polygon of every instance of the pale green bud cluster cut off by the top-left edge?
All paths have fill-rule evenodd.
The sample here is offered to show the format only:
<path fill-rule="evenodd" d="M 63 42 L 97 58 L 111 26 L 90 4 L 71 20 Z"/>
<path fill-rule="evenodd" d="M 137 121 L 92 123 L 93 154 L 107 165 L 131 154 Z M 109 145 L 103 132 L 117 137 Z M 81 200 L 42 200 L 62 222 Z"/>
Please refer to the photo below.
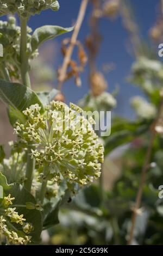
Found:
<path fill-rule="evenodd" d="M 0 0 L 0 16 L 18 13 L 22 17 L 40 14 L 42 10 L 57 11 L 57 0 Z"/>

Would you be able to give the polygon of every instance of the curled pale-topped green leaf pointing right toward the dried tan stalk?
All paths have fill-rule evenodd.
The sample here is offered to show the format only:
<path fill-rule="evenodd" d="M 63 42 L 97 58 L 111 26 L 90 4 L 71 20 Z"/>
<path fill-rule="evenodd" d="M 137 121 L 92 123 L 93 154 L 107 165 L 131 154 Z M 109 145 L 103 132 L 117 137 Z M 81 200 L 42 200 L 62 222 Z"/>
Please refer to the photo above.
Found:
<path fill-rule="evenodd" d="M 43 42 L 53 39 L 58 35 L 71 32 L 73 27 L 62 28 L 59 26 L 42 26 L 37 28 L 31 38 L 32 52 L 35 51 Z"/>

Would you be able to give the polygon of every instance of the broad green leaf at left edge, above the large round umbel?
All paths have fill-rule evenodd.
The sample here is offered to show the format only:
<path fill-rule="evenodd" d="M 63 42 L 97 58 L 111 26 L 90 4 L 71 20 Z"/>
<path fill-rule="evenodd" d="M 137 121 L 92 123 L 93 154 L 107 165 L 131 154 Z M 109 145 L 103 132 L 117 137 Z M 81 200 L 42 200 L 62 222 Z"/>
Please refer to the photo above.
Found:
<path fill-rule="evenodd" d="M 18 119 L 22 123 L 26 120 L 22 111 L 30 105 L 38 103 L 43 112 L 39 97 L 33 90 L 20 83 L 10 83 L 0 79 L 0 99 L 8 105 L 11 125 Z"/>

